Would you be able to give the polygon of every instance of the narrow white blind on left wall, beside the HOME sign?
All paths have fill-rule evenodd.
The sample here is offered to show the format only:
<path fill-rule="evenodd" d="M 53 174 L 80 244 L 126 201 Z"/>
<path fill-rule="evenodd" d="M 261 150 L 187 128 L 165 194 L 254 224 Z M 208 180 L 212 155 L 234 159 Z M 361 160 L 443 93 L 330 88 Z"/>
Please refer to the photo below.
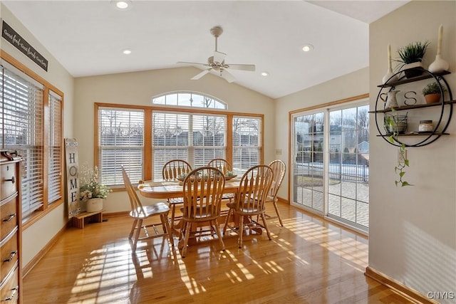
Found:
<path fill-rule="evenodd" d="M 49 173 L 48 173 L 48 203 L 57 201 L 62 197 L 62 168 L 61 168 L 61 103 L 60 96 L 49 94 Z"/>

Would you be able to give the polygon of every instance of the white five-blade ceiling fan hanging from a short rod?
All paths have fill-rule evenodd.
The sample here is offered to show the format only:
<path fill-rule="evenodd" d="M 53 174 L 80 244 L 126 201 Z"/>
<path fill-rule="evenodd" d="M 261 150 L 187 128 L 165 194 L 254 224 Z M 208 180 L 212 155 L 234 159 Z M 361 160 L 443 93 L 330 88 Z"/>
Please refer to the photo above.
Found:
<path fill-rule="evenodd" d="M 214 71 L 219 75 L 220 77 L 224 78 L 227 80 L 229 83 L 232 83 L 236 78 L 228 72 L 228 69 L 230 70 L 250 70 L 254 71 L 255 70 L 255 65 L 253 64 L 227 64 L 225 63 L 225 56 L 227 54 L 221 53 L 217 51 L 217 38 L 222 35 L 223 29 L 220 26 L 214 26 L 211 28 L 210 32 L 212 33 L 212 36 L 215 37 L 215 51 L 214 51 L 214 56 L 210 56 L 207 58 L 207 63 L 194 63 L 194 62 L 185 62 L 185 61 L 179 61 L 178 63 L 184 63 L 184 64 L 191 64 L 191 65 L 197 65 L 200 68 L 204 68 L 204 70 L 193 76 L 191 79 L 192 80 L 198 80 L 199 78 L 202 78 L 202 76 L 206 75 L 207 73 Z"/>

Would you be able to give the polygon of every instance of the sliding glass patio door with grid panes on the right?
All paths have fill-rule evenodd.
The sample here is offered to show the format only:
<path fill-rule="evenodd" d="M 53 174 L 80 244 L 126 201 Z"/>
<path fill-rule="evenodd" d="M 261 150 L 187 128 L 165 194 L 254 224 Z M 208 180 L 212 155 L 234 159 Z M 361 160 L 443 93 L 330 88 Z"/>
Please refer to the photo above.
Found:
<path fill-rule="evenodd" d="M 368 105 L 292 116 L 292 204 L 367 231 Z"/>

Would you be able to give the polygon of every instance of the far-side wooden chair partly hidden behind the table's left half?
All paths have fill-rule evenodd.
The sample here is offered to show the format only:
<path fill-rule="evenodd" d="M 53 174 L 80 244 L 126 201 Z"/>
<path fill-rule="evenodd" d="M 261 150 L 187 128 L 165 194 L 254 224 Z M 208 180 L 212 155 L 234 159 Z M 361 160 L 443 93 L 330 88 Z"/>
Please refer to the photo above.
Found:
<path fill-rule="evenodd" d="M 188 162 L 183 159 L 172 159 L 163 165 L 162 178 L 165 181 L 177 181 L 177 178 L 189 174 L 190 171 L 192 171 L 192 166 Z M 171 228 L 173 231 L 176 231 L 176 229 L 179 229 L 179 227 L 174 224 L 176 206 L 183 204 L 184 200 L 182 197 L 177 197 L 174 199 L 167 199 L 167 203 L 170 205 L 171 209 Z"/>

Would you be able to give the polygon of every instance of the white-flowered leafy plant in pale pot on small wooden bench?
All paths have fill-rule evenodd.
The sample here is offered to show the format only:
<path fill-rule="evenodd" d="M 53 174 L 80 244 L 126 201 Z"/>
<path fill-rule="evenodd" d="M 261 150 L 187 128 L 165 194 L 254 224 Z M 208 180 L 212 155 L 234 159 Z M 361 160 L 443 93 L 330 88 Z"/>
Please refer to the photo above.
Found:
<path fill-rule="evenodd" d="M 79 197 L 86 201 L 86 211 L 95 212 L 103 209 L 103 199 L 108 197 L 112 190 L 105 184 L 100 184 L 98 179 L 98 167 L 88 169 L 83 167 L 80 177 Z"/>

